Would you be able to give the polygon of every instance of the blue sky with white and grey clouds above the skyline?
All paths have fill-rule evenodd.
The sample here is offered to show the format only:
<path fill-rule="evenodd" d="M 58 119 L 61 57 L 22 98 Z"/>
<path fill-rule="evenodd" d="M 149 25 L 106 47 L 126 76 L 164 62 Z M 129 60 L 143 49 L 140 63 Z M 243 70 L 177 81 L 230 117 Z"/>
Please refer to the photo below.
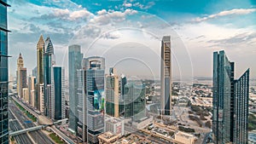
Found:
<path fill-rule="evenodd" d="M 120 72 L 143 75 L 150 69 L 148 77 L 158 77 L 160 38 L 171 35 L 174 76 L 212 77 L 212 52 L 224 49 L 230 60 L 236 62 L 237 77 L 250 67 L 255 78 L 256 1 L 253 0 L 9 0 L 9 3 L 12 75 L 20 52 L 28 73 L 32 73 L 36 66 L 36 43 L 43 34 L 54 44 L 58 65 L 67 67 L 67 46 L 79 43 L 85 56 L 106 56 L 107 67 L 132 58 L 131 66 L 126 66 L 127 62 L 125 67 L 118 65 Z M 120 55 L 119 59 L 115 55 Z M 138 68 L 143 66 L 144 69 Z"/>

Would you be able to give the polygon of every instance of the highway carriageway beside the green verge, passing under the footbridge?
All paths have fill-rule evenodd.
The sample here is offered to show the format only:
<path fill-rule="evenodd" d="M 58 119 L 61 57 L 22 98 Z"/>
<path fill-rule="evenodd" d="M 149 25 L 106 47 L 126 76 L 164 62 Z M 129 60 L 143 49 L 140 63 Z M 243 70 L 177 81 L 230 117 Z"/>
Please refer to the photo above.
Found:
<path fill-rule="evenodd" d="M 15 106 L 13 101 L 9 102 L 9 109 L 10 111 L 12 111 L 15 114 L 16 119 L 20 122 L 20 124 L 22 124 L 23 129 L 26 128 L 31 128 L 36 126 L 36 124 L 33 124 L 32 122 L 30 123 L 30 119 L 26 118 L 26 116 L 24 116 L 24 114 L 20 111 L 20 109 L 18 107 Z M 40 143 L 40 144 L 54 144 L 54 141 L 51 141 L 49 139 L 49 137 L 47 135 L 45 135 L 41 130 L 38 131 L 32 131 L 29 132 L 29 135 L 31 135 L 33 141 L 35 141 L 36 143 Z M 26 143 L 24 143 L 26 144 Z"/>

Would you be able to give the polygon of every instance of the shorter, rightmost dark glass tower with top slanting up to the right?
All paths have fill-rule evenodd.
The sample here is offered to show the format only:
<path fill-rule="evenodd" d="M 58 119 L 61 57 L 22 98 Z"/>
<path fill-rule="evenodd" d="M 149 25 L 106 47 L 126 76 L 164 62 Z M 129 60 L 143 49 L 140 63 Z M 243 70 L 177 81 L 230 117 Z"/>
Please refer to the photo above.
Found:
<path fill-rule="evenodd" d="M 234 91 L 234 138 L 233 143 L 248 141 L 249 69 L 235 81 Z"/>

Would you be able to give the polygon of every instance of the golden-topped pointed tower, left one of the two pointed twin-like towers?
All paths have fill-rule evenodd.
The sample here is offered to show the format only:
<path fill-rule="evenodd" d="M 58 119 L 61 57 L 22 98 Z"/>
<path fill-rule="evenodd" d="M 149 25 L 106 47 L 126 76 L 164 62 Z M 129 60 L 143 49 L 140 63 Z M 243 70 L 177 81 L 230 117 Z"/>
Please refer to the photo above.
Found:
<path fill-rule="evenodd" d="M 44 37 L 41 35 L 37 44 L 37 108 L 44 113 Z"/>

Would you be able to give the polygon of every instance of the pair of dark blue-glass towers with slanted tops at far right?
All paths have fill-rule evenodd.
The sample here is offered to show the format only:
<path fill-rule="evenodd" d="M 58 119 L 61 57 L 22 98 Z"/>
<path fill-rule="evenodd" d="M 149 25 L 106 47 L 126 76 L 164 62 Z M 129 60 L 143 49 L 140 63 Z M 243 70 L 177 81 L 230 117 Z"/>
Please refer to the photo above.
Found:
<path fill-rule="evenodd" d="M 213 53 L 212 132 L 216 144 L 235 141 L 243 144 L 247 140 L 249 76 L 247 71 L 234 80 L 234 72 L 235 64 L 224 50 Z"/>

